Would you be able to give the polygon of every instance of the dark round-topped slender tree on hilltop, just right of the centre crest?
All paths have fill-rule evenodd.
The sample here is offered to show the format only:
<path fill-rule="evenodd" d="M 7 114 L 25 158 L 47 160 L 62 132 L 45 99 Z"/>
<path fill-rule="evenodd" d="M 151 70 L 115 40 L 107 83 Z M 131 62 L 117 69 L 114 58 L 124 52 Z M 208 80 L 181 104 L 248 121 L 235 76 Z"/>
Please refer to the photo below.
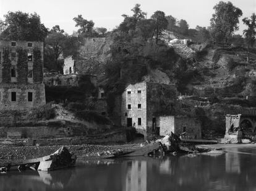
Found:
<path fill-rule="evenodd" d="M 155 24 L 154 36 L 156 37 L 157 44 L 163 30 L 166 29 L 168 26 L 168 20 L 165 18 L 165 14 L 163 11 L 154 12 L 154 14 L 151 16 L 151 19 L 153 19 Z"/>

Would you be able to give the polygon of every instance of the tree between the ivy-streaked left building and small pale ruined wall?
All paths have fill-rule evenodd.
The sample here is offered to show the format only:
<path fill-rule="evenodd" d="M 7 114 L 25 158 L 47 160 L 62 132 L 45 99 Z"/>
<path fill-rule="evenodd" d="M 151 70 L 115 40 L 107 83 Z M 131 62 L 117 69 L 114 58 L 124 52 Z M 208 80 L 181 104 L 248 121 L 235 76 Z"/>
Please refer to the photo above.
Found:
<path fill-rule="evenodd" d="M 63 51 L 64 40 L 66 40 L 66 36 L 64 35 L 64 30 L 59 28 L 59 25 L 55 25 L 46 38 L 46 46 L 49 46 L 48 49 L 51 50 L 50 52 L 53 54 L 54 64 L 56 65 Z"/>

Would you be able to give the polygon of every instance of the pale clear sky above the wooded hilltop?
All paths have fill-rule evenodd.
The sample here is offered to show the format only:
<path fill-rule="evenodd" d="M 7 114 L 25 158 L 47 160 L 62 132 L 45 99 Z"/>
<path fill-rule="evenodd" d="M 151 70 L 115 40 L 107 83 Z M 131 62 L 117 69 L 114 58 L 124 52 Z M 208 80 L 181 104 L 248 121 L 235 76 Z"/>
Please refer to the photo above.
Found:
<path fill-rule="evenodd" d="M 210 25 L 213 6 L 220 0 L 0 0 L 0 19 L 8 11 L 36 12 L 41 17 L 41 23 L 47 28 L 59 25 L 65 32 L 72 34 L 78 28 L 72 20 L 81 14 L 84 19 L 93 20 L 95 27 L 105 27 L 112 30 L 122 22 L 122 14 L 132 15 L 130 9 L 139 3 L 141 9 L 147 12 L 148 18 L 155 11 L 163 11 L 176 19 L 184 19 L 190 28 L 197 25 Z M 226 2 L 226 0 L 223 0 Z M 239 7 L 243 15 L 237 33 L 247 28 L 242 18 L 256 13 L 256 0 L 229 0 Z"/>

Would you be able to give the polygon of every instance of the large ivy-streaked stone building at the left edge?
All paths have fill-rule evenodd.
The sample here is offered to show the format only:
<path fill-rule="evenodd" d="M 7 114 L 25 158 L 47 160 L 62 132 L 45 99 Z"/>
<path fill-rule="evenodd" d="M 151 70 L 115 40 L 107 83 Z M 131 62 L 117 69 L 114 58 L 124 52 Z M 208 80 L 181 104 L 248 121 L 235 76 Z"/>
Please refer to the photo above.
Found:
<path fill-rule="evenodd" d="M 0 41 L 0 109 L 45 104 L 43 43 Z"/>

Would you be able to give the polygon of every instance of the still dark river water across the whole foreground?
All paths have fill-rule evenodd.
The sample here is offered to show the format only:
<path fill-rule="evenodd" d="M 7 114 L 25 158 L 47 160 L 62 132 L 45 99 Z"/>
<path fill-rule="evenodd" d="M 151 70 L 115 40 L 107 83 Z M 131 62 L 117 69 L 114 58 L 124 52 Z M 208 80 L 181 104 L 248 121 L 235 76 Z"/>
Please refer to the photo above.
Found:
<path fill-rule="evenodd" d="M 83 161 L 76 168 L 61 171 L 11 172 L 0 175 L 0 190 L 256 190 L 256 150 L 247 150 L 247 155 L 239 151 L 215 157 Z"/>

